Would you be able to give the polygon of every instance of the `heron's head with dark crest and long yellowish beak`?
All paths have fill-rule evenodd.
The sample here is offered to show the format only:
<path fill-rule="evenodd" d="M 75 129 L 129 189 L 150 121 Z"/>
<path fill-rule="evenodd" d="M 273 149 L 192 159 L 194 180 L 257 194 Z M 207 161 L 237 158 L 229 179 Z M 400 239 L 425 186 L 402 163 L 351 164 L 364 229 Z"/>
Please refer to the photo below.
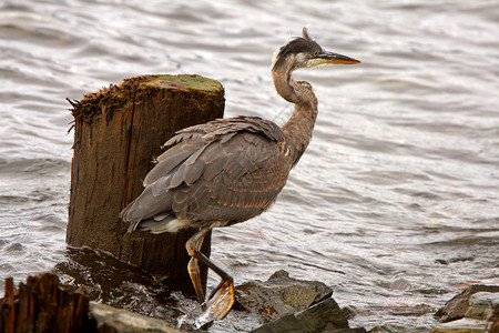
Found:
<path fill-rule="evenodd" d="M 303 28 L 303 37 L 297 37 L 283 46 L 274 58 L 272 70 L 287 64 L 292 70 L 298 68 L 315 68 L 334 63 L 354 64 L 360 61 L 338 53 L 323 50 Z"/>

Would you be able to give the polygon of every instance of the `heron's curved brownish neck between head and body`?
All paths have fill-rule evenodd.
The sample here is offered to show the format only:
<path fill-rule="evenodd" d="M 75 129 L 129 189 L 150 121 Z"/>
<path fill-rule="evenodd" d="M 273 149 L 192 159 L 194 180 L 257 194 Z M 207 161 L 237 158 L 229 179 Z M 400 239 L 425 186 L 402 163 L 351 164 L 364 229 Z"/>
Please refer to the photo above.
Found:
<path fill-rule="evenodd" d="M 297 82 L 291 77 L 292 70 L 273 70 L 272 75 L 277 93 L 295 104 L 292 117 L 281 128 L 284 134 L 286 155 L 294 167 L 312 140 L 317 119 L 317 98 L 308 82 Z"/>

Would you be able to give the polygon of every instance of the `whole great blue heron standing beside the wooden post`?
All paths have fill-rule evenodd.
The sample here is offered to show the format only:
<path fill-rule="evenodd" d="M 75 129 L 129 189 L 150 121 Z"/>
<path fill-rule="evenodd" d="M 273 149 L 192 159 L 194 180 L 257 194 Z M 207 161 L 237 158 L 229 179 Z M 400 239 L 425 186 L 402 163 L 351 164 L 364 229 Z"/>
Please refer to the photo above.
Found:
<path fill-rule="evenodd" d="M 221 276 L 208 297 L 214 319 L 231 310 L 234 284 L 226 272 L 200 252 L 203 240 L 211 229 L 252 219 L 276 200 L 289 170 L 312 139 L 317 117 L 314 89 L 308 82 L 293 80 L 291 73 L 298 68 L 333 63 L 359 61 L 323 50 L 304 28 L 303 37 L 278 50 L 271 70 L 277 93 L 295 104 L 289 120 L 279 128 L 258 117 L 240 115 L 176 132 L 145 176 L 142 194 L 120 214 L 130 222 L 129 231 L 200 230 L 185 245 L 191 255 L 187 270 L 202 304 L 205 296 L 198 262 Z"/>

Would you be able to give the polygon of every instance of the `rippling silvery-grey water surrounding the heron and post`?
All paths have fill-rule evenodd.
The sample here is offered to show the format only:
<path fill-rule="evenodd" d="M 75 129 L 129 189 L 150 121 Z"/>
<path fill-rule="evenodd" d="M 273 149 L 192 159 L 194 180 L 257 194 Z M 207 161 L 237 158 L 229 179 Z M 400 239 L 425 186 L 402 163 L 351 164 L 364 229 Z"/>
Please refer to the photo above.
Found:
<path fill-rule="evenodd" d="M 279 269 L 323 281 L 355 310 L 353 325 L 428 330 L 459 287 L 499 283 L 497 22 L 497 1 L 1 1 L 0 289 L 7 276 L 77 265 L 64 244 L 65 98 L 197 73 L 224 84 L 227 117 L 282 124 L 292 107 L 269 63 L 306 24 L 363 63 L 295 73 L 319 99 L 314 140 L 269 212 L 214 233 L 212 258 L 236 283 Z M 98 283 L 103 301 L 150 304 L 118 272 L 82 274 L 125 291 L 103 295 Z M 233 312 L 211 330 L 257 322 Z"/>

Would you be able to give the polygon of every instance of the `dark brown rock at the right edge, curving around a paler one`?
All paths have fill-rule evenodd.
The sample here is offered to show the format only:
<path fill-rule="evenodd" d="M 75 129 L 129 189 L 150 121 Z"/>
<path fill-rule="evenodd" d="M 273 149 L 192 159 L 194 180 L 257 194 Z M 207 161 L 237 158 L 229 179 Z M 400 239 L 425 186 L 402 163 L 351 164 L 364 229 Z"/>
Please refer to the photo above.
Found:
<path fill-rule="evenodd" d="M 478 292 L 499 293 L 499 285 L 472 284 L 447 302 L 435 316 L 442 323 L 462 319 L 468 310 L 469 299 Z"/>

